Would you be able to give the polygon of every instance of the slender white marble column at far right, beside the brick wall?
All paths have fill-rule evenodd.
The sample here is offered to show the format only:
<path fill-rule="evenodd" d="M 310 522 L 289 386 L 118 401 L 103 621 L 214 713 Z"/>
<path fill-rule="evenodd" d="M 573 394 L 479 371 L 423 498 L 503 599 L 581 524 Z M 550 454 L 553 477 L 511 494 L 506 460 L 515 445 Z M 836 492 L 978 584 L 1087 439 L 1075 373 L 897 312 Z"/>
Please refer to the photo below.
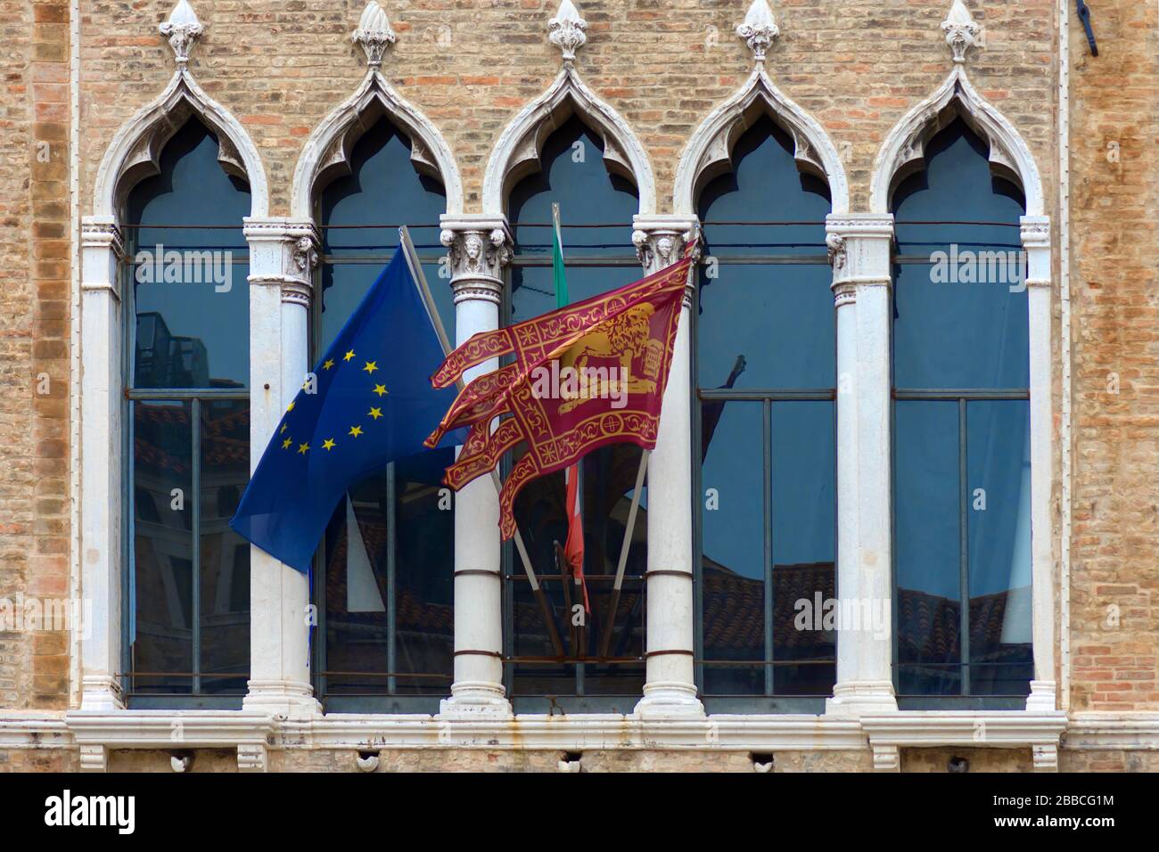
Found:
<path fill-rule="evenodd" d="M 1050 218 L 1022 217 L 1030 349 L 1030 598 L 1034 679 L 1028 711 L 1054 711 L 1055 571 L 1051 547 L 1050 494 L 1054 467 L 1050 344 Z M 1036 756 L 1037 757 L 1037 756 Z M 1035 765 L 1037 766 L 1037 760 Z"/>

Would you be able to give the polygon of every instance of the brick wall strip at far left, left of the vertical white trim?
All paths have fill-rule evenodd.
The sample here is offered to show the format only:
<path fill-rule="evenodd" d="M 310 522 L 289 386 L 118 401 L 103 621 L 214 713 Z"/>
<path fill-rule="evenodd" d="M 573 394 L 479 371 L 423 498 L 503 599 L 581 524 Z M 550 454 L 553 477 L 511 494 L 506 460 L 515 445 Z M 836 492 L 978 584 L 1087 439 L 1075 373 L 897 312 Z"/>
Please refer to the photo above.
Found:
<path fill-rule="evenodd" d="M 68 592 L 68 5 L 0 10 L 0 599 Z M 6 625 L 10 626 L 10 625 Z M 0 632 L 0 706 L 58 708 L 67 633 Z"/>

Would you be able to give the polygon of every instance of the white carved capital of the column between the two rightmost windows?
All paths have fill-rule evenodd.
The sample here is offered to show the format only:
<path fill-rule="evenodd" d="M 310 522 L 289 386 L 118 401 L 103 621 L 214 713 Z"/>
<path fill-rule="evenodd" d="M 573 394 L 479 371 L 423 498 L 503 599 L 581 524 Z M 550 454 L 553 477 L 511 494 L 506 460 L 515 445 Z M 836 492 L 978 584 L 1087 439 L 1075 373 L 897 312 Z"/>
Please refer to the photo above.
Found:
<path fill-rule="evenodd" d="M 851 304 L 851 292 L 862 286 L 889 286 L 894 246 L 892 213 L 830 213 L 825 245 L 833 267 L 833 296 L 838 306 Z"/>

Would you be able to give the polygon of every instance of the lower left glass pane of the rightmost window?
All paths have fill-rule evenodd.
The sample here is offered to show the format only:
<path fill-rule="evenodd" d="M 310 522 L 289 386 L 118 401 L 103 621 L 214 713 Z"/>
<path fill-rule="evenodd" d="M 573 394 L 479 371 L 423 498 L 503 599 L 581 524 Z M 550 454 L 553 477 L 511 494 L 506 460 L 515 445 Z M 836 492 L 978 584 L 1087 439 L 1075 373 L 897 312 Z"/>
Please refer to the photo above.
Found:
<path fill-rule="evenodd" d="M 898 401 L 894 412 L 898 689 L 901 694 L 958 694 L 958 403 Z"/>

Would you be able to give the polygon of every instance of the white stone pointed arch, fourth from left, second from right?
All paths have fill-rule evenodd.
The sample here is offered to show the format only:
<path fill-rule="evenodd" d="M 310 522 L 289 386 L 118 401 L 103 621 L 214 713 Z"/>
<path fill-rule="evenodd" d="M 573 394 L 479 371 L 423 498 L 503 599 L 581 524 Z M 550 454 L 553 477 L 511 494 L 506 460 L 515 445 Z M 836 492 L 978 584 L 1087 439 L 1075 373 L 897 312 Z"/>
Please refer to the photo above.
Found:
<path fill-rule="evenodd" d="M 732 170 L 737 139 L 761 116 L 768 116 L 793 137 L 797 168 L 829 184 L 832 212 L 850 210 L 850 185 L 837 147 L 824 129 L 801 107 L 786 97 L 758 64 L 736 94 L 714 109 L 688 139 L 676 168 L 672 209 L 693 214 L 697 197 L 707 183 Z"/>

